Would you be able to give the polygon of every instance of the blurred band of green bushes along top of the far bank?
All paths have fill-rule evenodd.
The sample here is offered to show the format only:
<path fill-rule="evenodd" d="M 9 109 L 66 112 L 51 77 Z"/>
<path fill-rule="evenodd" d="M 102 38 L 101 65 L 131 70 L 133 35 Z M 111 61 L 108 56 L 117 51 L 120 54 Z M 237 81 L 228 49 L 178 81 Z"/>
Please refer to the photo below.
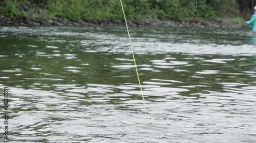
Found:
<path fill-rule="evenodd" d="M 122 0 L 129 19 L 236 18 L 252 14 L 255 0 Z M 0 16 L 120 21 L 119 0 L 1 0 Z"/>

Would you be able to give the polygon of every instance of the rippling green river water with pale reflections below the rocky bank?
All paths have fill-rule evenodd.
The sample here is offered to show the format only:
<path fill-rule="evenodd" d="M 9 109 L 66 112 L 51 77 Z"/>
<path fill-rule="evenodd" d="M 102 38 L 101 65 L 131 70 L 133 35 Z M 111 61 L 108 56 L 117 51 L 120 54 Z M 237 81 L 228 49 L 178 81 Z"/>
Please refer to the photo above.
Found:
<path fill-rule="evenodd" d="M 249 29 L 130 32 L 146 116 L 125 27 L 0 27 L 9 141 L 256 142 Z"/>

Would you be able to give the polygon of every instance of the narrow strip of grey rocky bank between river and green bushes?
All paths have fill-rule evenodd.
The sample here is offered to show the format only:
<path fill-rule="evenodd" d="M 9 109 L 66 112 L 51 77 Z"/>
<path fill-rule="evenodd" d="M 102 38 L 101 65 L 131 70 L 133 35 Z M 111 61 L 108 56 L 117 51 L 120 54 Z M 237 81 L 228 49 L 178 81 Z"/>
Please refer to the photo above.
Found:
<path fill-rule="evenodd" d="M 246 24 L 238 24 L 232 20 L 216 20 L 216 19 L 189 19 L 185 21 L 175 20 L 158 20 L 158 21 L 146 21 L 146 20 L 128 20 L 129 26 L 170 26 L 170 27 L 217 27 L 217 28 L 231 28 L 231 27 L 248 27 Z M 115 22 L 113 20 L 75 20 L 67 21 L 61 18 L 54 17 L 49 20 L 32 19 L 29 17 L 17 17 L 8 18 L 0 17 L 0 25 L 36 25 L 36 26 L 116 26 L 124 25 L 123 22 Z"/>

